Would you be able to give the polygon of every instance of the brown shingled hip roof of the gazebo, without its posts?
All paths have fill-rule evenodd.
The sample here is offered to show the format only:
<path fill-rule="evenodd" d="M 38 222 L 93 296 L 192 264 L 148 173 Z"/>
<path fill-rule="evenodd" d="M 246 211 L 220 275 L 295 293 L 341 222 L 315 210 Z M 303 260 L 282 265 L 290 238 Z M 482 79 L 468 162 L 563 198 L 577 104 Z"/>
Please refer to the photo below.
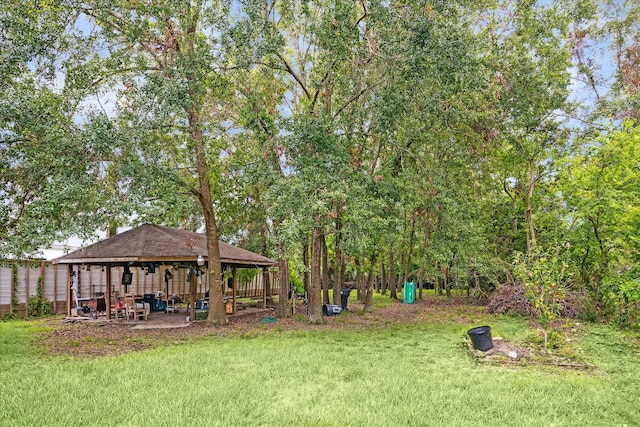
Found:
<path fill-rule="evenodd" d="M 270 258 L 228 243 L 218 242 L 222 264 L 263 267 L 276 264 Z M 117 264 L 196 262 L 207 260 L 207 238 L 203 234 L 160 225 L 143 224 L 86 248 L 53 260 L 54 264 Z"/>

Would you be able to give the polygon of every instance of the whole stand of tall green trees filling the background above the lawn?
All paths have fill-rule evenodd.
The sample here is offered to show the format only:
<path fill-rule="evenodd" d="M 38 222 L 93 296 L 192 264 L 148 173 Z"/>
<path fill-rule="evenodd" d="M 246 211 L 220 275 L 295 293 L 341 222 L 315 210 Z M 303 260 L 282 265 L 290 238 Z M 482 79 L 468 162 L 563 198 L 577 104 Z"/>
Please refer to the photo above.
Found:
<path fill-rule="evenodd" d="M 633 1 L 0 5 L 0 256 L 143 222 L 278 259 L 309 320 L 355 281 L 539 320 L 640 319 Z M 379 285 L 381 283 L 382 285 Z M 420 294 L 418 295 L 420 296 Z"/>

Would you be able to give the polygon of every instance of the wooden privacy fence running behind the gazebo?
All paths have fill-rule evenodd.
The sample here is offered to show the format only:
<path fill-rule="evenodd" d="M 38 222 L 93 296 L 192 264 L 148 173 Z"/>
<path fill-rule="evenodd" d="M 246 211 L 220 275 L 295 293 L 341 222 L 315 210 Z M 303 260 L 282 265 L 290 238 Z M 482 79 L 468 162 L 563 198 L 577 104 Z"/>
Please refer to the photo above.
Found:
<path fill-rule="evenodd" d="M 165 271 L 171 271 L 171 278 L 165 281 Z M 263 294 L 265 275 L 258 274 L 259 269 L 243 269 L 244 274 L 238 278 L 238 298 L 260 298 Z M 191 286 L 196 286 L 196 294 L 200 298 L 204 295 L 209 284 L 206 274 L 193 275 L 188 268 L 174 269 L 171 266 L 160 266 L 154 273 L 148 273 L 141 268 L 131 267 L 133 280 L 131 285 L 121 284 L 123 267 L 111 267 L 111 285 L 113 291 L 133 293 L 136 295 L 156 294 L 176 295 L 187 301 Z M 225 277 L 231 272 L 227 272 Z M 277 273 L 269 272 L 270 294 L 278 293 Z M 231 296 L 233 289 L 230 281 L 223 284 L 224 295 Z M 52 264 L 50 261 L 2 261 L 0 263 L 0 316 L 13 313 L 18 317 L 26 317 L 29 313 L 29 299 L 40 298 L 48 302 L 52 313 L 67 313 L 67 300 L 73 301 L 75 295 L 71 287 L 77 289 L 80 299 L 93 297 L 95 294 L 106 292 L 107 275 L 105 268 L 100 266 L 68 266 Z M 41 290 L 38 290 L 38 287 Z M 75 307 L 75 303 L 71 303 Z"/>

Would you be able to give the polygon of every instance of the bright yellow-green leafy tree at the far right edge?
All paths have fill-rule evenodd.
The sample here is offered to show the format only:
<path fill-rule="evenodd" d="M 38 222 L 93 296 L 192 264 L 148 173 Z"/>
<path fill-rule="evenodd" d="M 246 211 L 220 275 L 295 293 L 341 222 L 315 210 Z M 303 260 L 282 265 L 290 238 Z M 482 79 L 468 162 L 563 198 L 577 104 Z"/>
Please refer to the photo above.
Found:
<path fill-rule="evenodd" d="M 564 160 L 560 187 L 574 217 L 573 264 L 593 299 L 591 317 L 598 306 L 605 318 L 637 325 L 640 131 L 625 122 L 577 141 L 576 149 Z"/>

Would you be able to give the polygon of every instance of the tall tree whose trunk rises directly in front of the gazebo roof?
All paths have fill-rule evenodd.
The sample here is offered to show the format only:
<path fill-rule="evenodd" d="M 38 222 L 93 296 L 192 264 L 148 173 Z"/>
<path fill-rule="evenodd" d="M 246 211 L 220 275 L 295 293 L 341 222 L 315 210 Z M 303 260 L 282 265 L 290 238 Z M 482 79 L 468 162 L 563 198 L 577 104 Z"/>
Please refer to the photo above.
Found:
<path fill-rule="evenodd" d="M 225 99 L 231 92 L 225 73 L 239 62 L 232 55 L 234 38 L 244 43 L 251 34 L 242 18 L 230 23 L 232 13 L 242 16 L 242 11 L 232 12 L 227 2 L 203 1 L 96 0 L 67 7 L 78 19 L 73 35 L 93 52 L 78 66 L 93 67 L 98 81 L 115 85 L 114 121 L 123 135 L 134 136 L 130 147 L 141 163 L 166 168 L 173 188 L 197 200 L 207 235 L 208 320 L 226 323 L 214 184 L 228 143 Z"/>

